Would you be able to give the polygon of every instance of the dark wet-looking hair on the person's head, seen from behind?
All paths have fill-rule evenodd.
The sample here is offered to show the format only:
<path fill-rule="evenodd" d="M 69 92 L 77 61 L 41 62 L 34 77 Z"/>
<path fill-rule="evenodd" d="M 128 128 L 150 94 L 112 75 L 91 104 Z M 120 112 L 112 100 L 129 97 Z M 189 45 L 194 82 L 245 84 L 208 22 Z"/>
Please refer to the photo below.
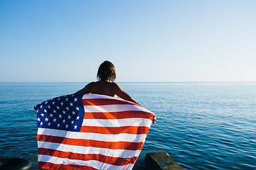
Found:
<path fill-rule="evenodd" d="M 116 74 L 115 74 L 114 64 L 112 64 L 112 62 L 109 62 L 107 60 L 105 62 L 102 62 L 97 72 L 97 79 L 100 81 L 107 80 L 107 81 L 113 82 L 115 78 L 116 78 Z"/>

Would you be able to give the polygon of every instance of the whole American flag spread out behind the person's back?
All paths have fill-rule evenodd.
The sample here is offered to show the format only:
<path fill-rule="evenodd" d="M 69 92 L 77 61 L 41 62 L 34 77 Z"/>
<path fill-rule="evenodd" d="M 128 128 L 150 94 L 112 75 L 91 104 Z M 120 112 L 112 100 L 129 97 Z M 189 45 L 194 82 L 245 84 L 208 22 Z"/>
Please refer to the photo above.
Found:
<path fill-rule="evenodd" d="M 98 94 L 60 96 L 34 109 L 39 169 L 132 169 L 156 117 Z"/>

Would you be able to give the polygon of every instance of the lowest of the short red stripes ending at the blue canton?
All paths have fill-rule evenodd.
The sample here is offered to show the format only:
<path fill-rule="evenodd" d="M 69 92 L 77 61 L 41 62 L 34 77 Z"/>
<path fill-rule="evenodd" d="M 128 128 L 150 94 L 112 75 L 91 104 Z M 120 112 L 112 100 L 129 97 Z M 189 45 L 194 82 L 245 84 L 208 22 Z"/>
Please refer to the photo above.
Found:
<path fill-rule="evenodd" d="M 122 127 L 98 127 L 98 126 L 82 126 L 80 132 L 93 132 L 101 134 L 146 134 L 149 132 L 149 128 L 146 126 L 122 126 Z"/>

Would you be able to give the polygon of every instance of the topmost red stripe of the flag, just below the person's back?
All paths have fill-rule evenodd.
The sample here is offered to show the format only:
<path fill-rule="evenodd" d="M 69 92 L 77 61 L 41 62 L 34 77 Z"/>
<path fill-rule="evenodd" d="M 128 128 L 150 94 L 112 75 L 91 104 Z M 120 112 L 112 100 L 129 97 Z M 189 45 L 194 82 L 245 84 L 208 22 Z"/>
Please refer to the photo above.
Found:
<path fill-rule="evenodd" d="M 130 104 L 139 106 L 137 103 L 131 101 L 123 101 L 119 99 L 109 99 L 109 98 L 86 98 L 82 99 L 82 104 L 84 106 L 102 106 L 102 105 L 118 105 L 118 104 Z"/>

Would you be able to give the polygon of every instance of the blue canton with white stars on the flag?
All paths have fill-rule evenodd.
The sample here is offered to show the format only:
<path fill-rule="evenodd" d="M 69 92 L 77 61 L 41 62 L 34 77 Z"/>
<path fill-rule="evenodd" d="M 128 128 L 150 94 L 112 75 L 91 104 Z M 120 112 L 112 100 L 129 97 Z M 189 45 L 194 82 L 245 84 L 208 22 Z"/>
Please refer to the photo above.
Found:
<path fill-rule="evenodd" d="M 38 128 L 79 132 L 85 114 L 83 94 L 60 96 L 44 101 L 34 107 Z"/>

